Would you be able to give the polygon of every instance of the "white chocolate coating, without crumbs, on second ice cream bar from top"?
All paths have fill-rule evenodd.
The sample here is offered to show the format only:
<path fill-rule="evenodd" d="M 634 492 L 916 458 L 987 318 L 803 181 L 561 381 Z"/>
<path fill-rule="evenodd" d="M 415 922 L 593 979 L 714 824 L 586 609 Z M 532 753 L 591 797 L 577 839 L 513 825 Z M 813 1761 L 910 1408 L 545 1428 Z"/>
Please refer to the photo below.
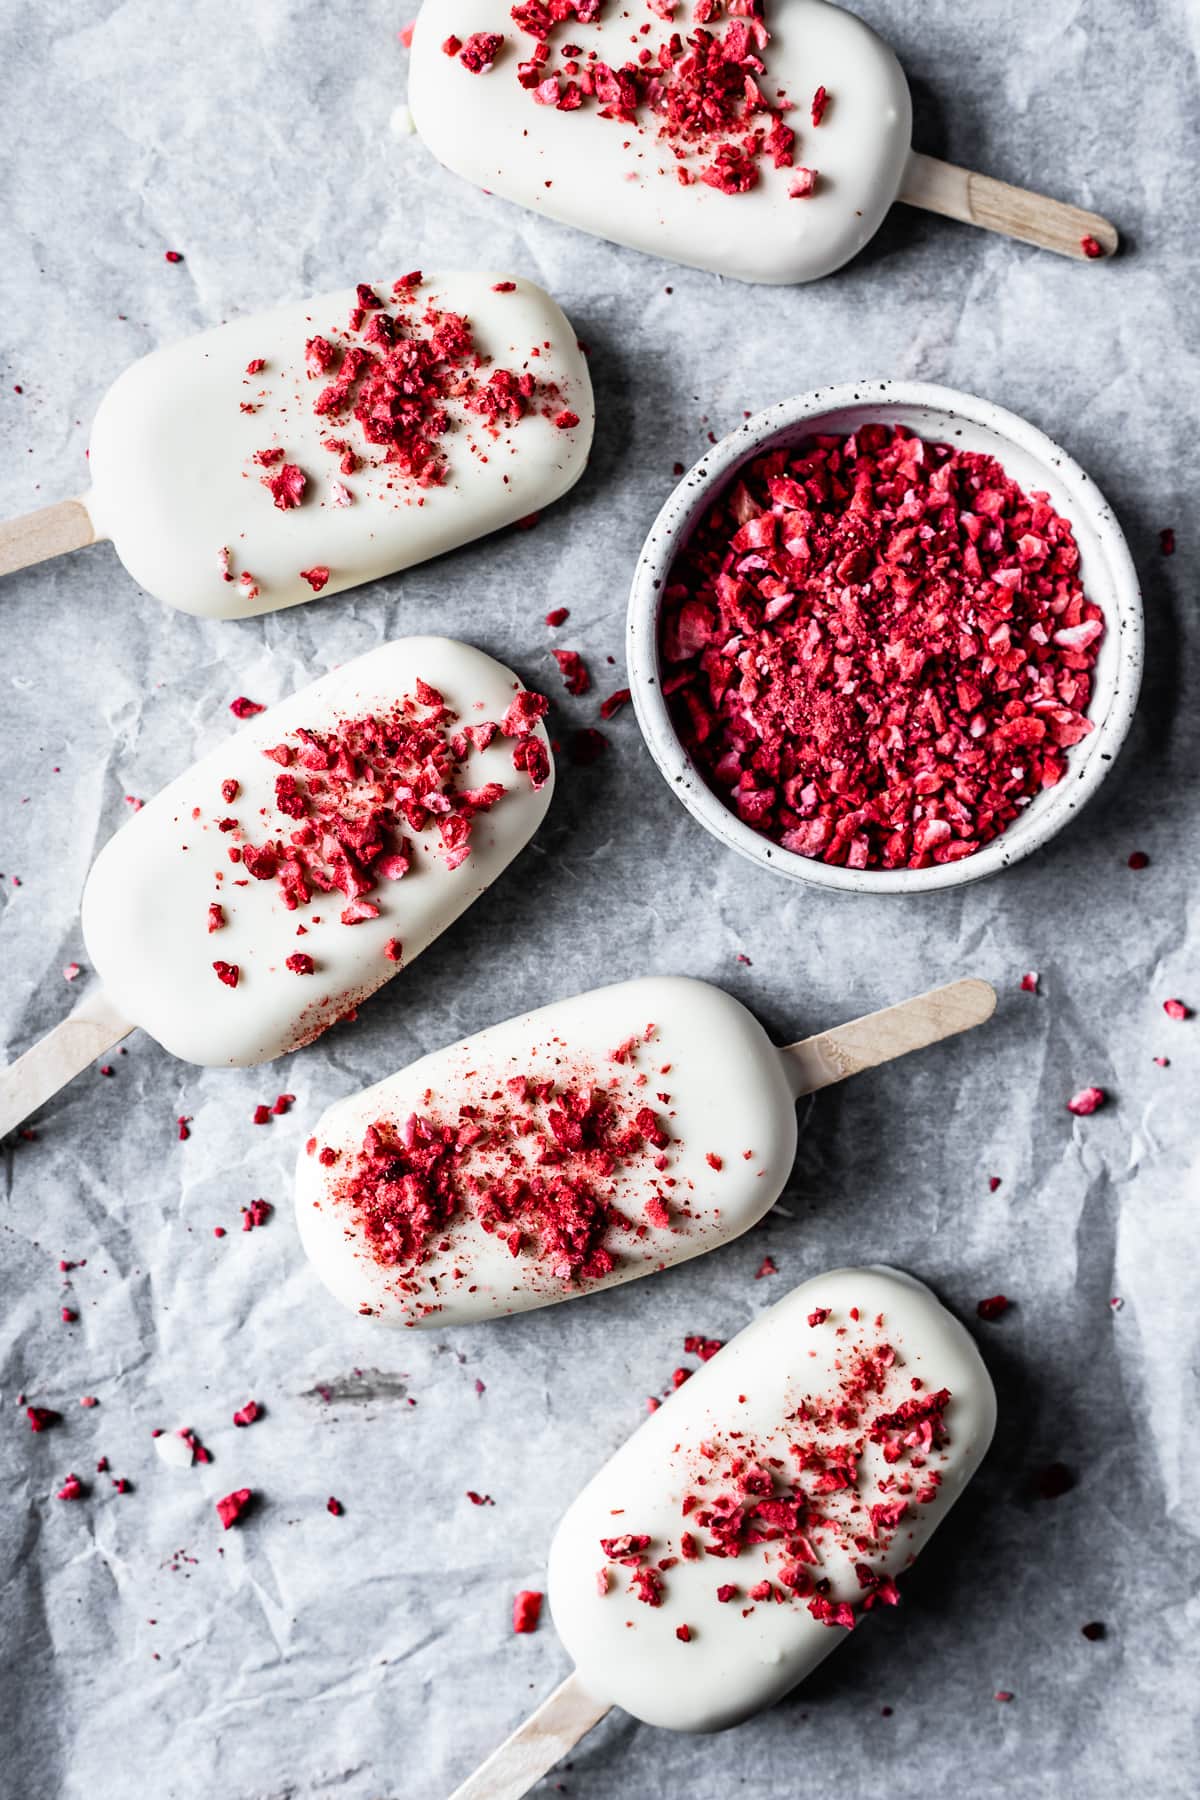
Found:
<path fill-rule="evenodd" d="M 441 439 L 446 482 L 405 482 L 353 418 L 313 410 L 329 376 L 306 371 L 306 340 L 333 338 L 354 306 L 354 290 L 324 293 L 153 351 L 113 382 L 88 450 L 86 506 L 97 535 L 113 540 L 133 580 L 158 599 L 232 619 L 313 599 L 302 569 L 327 567 L 322 596 L 338 594 L 558 500 L 587 464 L 592 383 L 574 328 L 549 293 L 533 281 L 497 293 L 506 279 L 495 272 L 428 275 L 416 292 L 421 306 L 464 313 L 477 349 L 497 369 L 556 383 L 561 409 L 579 418 L 574 428 L 531 410 L 493 436 L 461 400 L 450 400 L 453 423 Z M 378 293 L 387 301 L 390 283 L 380 283 Z M 257 358 L 264 369 L 248 374 Z M 252 410 L 241 412 L 243 403 Z M 347 439 L 371 461 L 342 473 L 338 457 L 322 448 L 326 437 Z M 254 463 L 272 448 L 308 475 L 302 504 L 286 511 Z M 223 551 L 232 581 L 223 576 Z"/>

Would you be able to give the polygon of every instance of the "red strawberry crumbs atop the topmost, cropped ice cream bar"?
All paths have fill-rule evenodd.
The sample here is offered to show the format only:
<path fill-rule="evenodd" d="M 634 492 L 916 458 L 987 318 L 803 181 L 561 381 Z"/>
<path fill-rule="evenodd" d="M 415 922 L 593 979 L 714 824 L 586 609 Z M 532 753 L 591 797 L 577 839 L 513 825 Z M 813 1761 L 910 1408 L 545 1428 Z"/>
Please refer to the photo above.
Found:
<path fill-rule="evenodd" d="M 612 18 L 621 29 L 631 11 L 604 0 L 513 5 L 515 23 L 533 40 L 516 61 L 516 81 L 529 99 L 567 113 L 594 112 L 626 133 L 651 133 L 662 146 L 660 173 L 673 173 L 684 187 L 702 182 L 721 194 L 745 194 L 765 169 L 790 167 L 795 130 L 784 113 L 793 108 L 766 72 L 763 0 L 698 0 L 685 34 L 671 29 L 675 7 L 667 0 L 646 0 L 631 40 L 637 50 L 624 52 L 619 67 L 596 47 L 570 41 L 576 25 Z M 552 41 L 558 32 L 565 41 Z M 628 40 L 621 34 L 619 41 Z M 450 43 L 457 50 L 457 40 L 443 49 Z M 824 88 L 819 99 L 824 108 Z M 813 99 L 813 124 L 820 124 L 820 108 Z"/>

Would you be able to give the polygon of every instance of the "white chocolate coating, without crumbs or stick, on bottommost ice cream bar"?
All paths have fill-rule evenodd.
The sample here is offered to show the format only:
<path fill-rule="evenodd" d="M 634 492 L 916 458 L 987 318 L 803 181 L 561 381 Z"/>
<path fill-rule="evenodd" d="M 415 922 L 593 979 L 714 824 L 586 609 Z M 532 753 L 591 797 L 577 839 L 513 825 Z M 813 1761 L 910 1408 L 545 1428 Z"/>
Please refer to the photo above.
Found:
<path fill-rule="evenodd" d="M 824 1307 L 829 1319 L 810 1327 L 810 1314 Z M 849 1319 L 851 1307 L 860 1309 L 858 1325 Z M 876 1327 L 880 1314 L 883 1323 Z M 894 1384 L 874 1406 L 862 1408 L 862 1420 L 909 1399 L 912 1377 L 923 1382 L 921 1393 L 948 1388 L 948 1442 L 912 1471 L 914 1481 L 936 1471 L 941 1485 L 932 1501 L 909 1505 L 882 1552 L 846 1548 L 837 1532 L 810 1532 L 819 1559 L 811 1577 L 828 1579 L 833 1602 L 856 1604 L 864 1598 L 856 1562 L 883 1575 L 912 1562 L 991 1442 L 995 1391 L 968 1332 L 919 1282 L 891 1269 L 837 1269 L 793 1289 L 705 1363 L 604 1463 L 563 1517 L 551 1546 L 551 1607 L 590 1694 L 648 1724 L 712 1732 L 774 1705 L 837 1649 L 846 1631 L 813 1618 L 804 1600 L 748 1600 L 748 1589 L 763 1579 L 779 1591 L 779 1543 L 754 1544 L 736 1557 L 702 1553 L 698 1561 L 678 1561 L 662 1575 L 662 1604 L 649 1606 L 630 1593 L 630 1570 L 606 1559 L 599 1539 L 649 1534 L 651 1564 L 667 1546 L 678 1555 L 680 1532 L 689 1525 L 703 1541 L 707 1532 L 694 1526 L 694 1514 L 682 1516 L 684 1496 L 712 1499 L 736 1489 L 736 1481 L 712 1480 L 720 1463 L 700 1451 L 702 1444 L 711 1449 L 729 1442 L 734 1429 L 747 1435 L 743 1445 L 768 1445 L 786 1476 L 795 1478 L 788 1444 L 802 1440 L 806 1426 L 784 1420 L 806 1397 L 835 1399 L 844 1379 L 835 1359 L 846 1363 L 847 1348 L 880 1341 L 896 1352 Z M 846 1436 L 862 1438 L 862 1424 Z M 894 1492 L 880 1496 L 878 1481 L 905 1480 L 912 1462 L 905 1453 L 887 1465 L 880 1445 L 867 1442 L 855 1490 L 831 1494 L 820 1505 L 869 1534 L 867 1505 Z M 696 1485 L 702 1469 L 709 1471 L 707 1489 Z M 799 1485 L 811 1492 L 813 1476 L 801 1474 Z M 851 1514 L 855 1499 L 858 1512 Z M 603 1595 L 599 1570 L 608 1573 Z M 738 1595 L 721 1604 L 716 1589 L 725 1582 Z M 691 1642 L 676 1638 L 680 1625 L 689 1627 Z"/>

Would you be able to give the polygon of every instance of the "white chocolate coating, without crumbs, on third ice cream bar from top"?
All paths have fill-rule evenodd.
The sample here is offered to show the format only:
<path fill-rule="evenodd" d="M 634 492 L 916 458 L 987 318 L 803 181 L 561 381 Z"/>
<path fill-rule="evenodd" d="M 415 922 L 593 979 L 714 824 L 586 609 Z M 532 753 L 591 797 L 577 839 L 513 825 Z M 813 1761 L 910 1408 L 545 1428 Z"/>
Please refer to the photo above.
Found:
<path fill-rule="evenodd" d="M 497 805 L 475 817 L 468 859 L 450 869 L 434 832 L 407 832 L 412 868 L 372 889 L 378 918 L 344 925 L 347 898 L 336 891 L 288 911 L 275 880 L 243 878 L 228 846 L 261 842 L 290 824 L 275 810 L 279 763 L 264 751 L 297 727 L 327 731 L 338 720 L 387 713 L 417 680 L 437 688 L 464 725 L 502 720 L 520 689 L 493 657 L 450 637 L 381 644 L 245 724 L 101 850 L 83 895 L 88 954 L 113 1004 L 173 1055 L 209 1066 L 255 1064 L 309 1042 L 398 972 L 385 952 L 389 940 L 399 938 L 407 967 L 538 830 L 552 772 L 534 790 L 513 767 L 513 742 L 495 738 L 486 751 L 471 749 L 455 783 L 459 790 L 488 781 L 504 787 Z M 542 727 L 538 734 L 545 743 Z M 241 792 L 225 801 L 221 783 L 230 778 Z M 223 833 L 218 821 L 230 815 L 241 830 Z M 225 923 L 210 932 L 214 902 Z M 291 952 L 309 952 L 315 972 L 286 968 Z M 218 979 L 214 958 L 239 968 L 236 988 Z"/>

